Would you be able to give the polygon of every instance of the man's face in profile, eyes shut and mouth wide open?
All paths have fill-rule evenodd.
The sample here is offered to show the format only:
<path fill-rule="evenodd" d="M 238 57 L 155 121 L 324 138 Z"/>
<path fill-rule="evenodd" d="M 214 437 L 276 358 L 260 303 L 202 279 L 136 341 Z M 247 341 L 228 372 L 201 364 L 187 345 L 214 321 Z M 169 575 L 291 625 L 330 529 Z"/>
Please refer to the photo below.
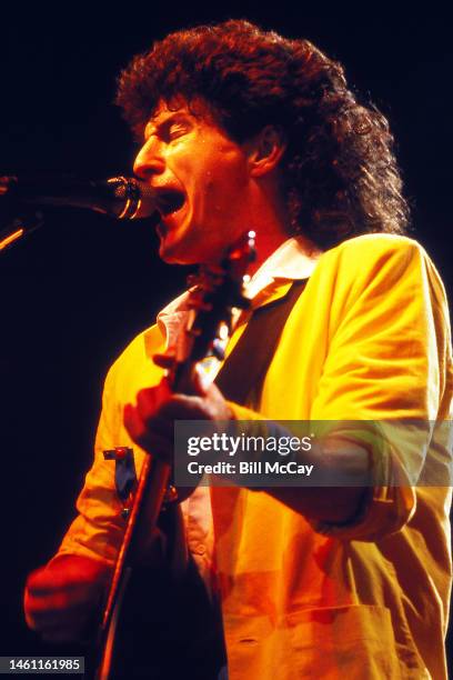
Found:
<path fill-rule="evenodd" d="M 195 111 L 161 103 L 134 163 L 158 193 L 160 257 L 181 264 L 219 260 L 253 228 L 245 146 L 232 141 L 205 106 Z"/>

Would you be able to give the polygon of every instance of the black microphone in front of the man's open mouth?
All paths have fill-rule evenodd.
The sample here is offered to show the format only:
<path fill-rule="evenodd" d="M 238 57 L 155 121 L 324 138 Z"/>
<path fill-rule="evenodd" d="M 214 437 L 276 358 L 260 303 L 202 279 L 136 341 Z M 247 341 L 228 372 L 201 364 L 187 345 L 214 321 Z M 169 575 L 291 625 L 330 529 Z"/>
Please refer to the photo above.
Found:
<path fill-rule="evenodd" d="M 132 177 L 84 180 L 68 176 L 0 177 L 1 198 L 34 206 L 70 206 L 118 220 L 148 218 L 158 210 L 155 191 Z"/>

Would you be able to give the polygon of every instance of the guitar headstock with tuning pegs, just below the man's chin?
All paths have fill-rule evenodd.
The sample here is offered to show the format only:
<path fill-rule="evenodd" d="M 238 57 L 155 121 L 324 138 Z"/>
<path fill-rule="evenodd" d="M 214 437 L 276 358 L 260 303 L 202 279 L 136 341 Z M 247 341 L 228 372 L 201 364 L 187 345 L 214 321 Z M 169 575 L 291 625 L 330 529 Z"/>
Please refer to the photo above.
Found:
<path fill-rule="evenodd" d="M 230 336 L 232 310 L 246 309 L 250 304 L 243 286 L 255 252 L 255 233 L 249 231 L 229 248 L 219 264 L 202 266 L 190 277 L 191 321 L 185 331 L 184 359 L 177 363 L 170 377 L 173 389 L 183 388 L 193 366 L 205 357 L 223 358 L 222 347 Z"/>

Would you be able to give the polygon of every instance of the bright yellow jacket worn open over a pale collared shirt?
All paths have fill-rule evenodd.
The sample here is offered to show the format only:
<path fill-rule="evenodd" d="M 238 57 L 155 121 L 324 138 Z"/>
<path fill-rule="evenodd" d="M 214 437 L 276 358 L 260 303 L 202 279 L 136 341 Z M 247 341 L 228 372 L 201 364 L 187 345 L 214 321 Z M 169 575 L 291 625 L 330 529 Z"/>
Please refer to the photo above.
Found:
<path fill-rule="evenodd" d="M 274 281 L 260 304 L 289 284 Z M 132 446 L 122 408 L 160 380 L 150 357 L 163 344 L 152 327 L 109 372 L 94 466 L 60 552 L 115 557 L 120 503 L 102 451 Z M 452 388 L 435 268 L 414 241 L 373 234 L 320 258 L 255 410 L 233 409 L 244 420 L 445 421 Z M 436 450 L 445 464 L 444 442 Z M 371 454 L 379 468 L 382 451 Z M 404 472 L 404 451 L 396 458 Z M 211 499 L 230 680 L 446 677 L 447 487 L 376 484 L 361 517 L 342 527 L 310 521 L 265 492 L 213 488 Z"/>

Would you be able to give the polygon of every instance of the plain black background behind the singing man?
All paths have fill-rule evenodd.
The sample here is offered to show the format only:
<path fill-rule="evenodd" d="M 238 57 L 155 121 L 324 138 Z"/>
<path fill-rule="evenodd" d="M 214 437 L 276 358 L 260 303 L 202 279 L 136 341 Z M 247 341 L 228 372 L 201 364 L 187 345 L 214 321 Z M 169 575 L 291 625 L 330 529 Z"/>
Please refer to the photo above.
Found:
<path fill-rule="evenodd" d="M 245 17 L 311 39 L 389 117 L 413 236 L 452 292 L 450 22 L 433 3 L 410 16 L 396 13 L 396 3 L 342 4 L 12 7 L 0 29 L 0 174 L 130 173 L 135 149 L 111 104 L 120 68 L 169 30 Z M 0 654 L 47 653 L 22 622 L 22 584 L 73 517 L 109 364 L 184 284 L 155 246 L 147 223 L 49 210 L 46 228 L 0 254 Z"/>

